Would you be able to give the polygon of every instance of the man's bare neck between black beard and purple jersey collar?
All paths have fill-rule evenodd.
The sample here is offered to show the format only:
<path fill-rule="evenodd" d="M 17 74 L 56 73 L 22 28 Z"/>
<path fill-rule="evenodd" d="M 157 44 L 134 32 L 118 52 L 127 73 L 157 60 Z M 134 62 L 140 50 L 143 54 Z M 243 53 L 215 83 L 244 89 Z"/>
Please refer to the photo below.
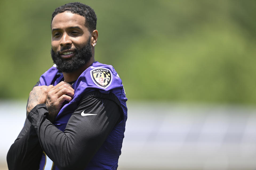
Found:
<path fill-rule="evenodd" d="M 91 59 L 82 67 L 80 67 L 78 70 L 75 70 L 71 73 L 63 73 L 64 81 L 65 82 L 73 82 L 78 79 L 78 77 L 85 71 L 93 62 L 95 62 L 94 57 L 91 57 Z"/>

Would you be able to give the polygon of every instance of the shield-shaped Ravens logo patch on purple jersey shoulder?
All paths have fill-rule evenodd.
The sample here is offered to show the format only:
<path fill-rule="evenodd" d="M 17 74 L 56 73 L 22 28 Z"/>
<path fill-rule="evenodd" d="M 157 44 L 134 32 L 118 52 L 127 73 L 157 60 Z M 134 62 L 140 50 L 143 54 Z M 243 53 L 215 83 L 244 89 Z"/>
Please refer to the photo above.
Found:
<path fill-rule="evenodd" d="M 111 84 L 112 74 L 109 69 L 98 67 L 91 70 L 91 78 L 97 86 L 107 88 Z"/>

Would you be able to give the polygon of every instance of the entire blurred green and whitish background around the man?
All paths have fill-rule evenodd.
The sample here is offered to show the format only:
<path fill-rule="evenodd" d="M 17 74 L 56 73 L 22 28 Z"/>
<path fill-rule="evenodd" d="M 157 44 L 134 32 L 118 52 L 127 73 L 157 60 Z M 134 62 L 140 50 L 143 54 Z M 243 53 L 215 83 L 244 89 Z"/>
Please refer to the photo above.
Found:
<path fill-rule="evenodd" d="M 0 2 L 2 169 L 68 2 Z M 95 59 L 128 98 L 119 169 L 256 169 L 256 1 L 80 2 L 98 17 Z"/>

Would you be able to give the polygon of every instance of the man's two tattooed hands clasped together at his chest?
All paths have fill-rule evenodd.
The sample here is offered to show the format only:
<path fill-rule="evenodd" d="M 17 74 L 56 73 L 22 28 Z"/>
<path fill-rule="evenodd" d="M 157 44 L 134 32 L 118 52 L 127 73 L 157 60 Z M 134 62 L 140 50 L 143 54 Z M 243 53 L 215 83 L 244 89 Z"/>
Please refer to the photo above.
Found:
<path fill-rule="evenodd" d="M 53 122 L 59 113 L 64 101 L 71 101 L 74 97 L 74 89 L 69 83 L 60 82 L 56 86 L 36 86 L 29 94 L 27 114 L 38 104 L 46 104 L 49 116 Z"/>

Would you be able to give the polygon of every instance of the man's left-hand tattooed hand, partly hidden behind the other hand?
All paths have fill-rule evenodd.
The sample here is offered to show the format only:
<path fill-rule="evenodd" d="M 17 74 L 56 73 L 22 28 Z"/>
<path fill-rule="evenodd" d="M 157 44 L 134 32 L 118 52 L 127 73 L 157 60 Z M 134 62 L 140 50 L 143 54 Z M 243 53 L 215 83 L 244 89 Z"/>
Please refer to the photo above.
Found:
<path fill-rule="evenodd" d="M 50 86 L 36 86 L 29 94 L 29 101 L 27 103 L 27 115 L 38 104 L 43 104 L 46 101 L 47 93 L 53 85 Z"/>

